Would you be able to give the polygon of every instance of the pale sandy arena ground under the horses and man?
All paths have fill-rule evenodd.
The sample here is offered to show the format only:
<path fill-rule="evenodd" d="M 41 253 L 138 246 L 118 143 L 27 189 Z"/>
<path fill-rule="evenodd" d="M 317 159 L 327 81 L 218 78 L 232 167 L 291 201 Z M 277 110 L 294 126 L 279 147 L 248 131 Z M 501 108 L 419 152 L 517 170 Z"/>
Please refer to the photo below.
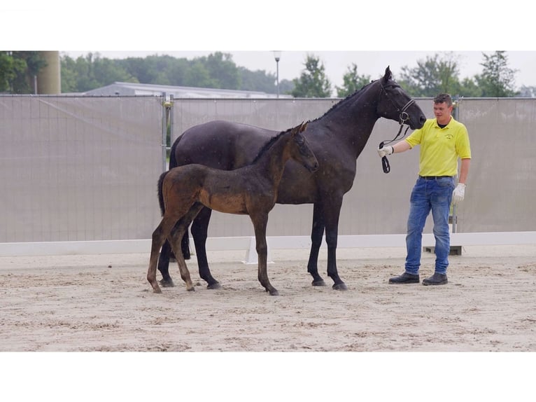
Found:
<path fill-rule="evenodd" d="M 155 294 L 148 253 L 0 257 L 0 350 L 536 352 L 536 245 L 465 247 L 446 286 L 390 285 L 404 249 L 339 249 L 348 291 L 311 286 L 307 250 L 274 251 L 269 296 L 245 253 L 211 252 L 220 290 Z M 421 279 L 435 256 L 423 253 Z M 160 272 L 158 273 L 160 279 Z"/>

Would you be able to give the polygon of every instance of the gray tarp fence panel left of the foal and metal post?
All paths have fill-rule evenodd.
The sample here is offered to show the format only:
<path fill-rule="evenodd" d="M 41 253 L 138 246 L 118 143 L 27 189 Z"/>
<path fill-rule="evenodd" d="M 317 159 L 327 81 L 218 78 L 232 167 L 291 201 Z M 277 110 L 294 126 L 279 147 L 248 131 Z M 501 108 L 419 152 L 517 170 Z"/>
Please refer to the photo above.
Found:
<path fill-rule="evenodd" d="M 0 242 L 150 237 L 162 99 L 0 97 Z"/>

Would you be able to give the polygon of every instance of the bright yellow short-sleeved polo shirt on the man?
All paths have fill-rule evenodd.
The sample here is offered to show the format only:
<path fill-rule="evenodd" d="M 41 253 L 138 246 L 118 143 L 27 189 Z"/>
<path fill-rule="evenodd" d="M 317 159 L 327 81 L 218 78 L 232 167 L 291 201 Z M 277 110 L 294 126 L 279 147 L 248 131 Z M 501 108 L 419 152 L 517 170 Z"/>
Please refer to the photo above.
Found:
<path fill-rule="evenodd" d="M 441 128 L 436 118 L 429 118 L 423 127 L 405 139 L 409 146 L 421 146 L 418 174 L 420 176 L 456 176 L 458 158 L 471 158 L 469 134 L 463 123 L 451 118 Z"/>

